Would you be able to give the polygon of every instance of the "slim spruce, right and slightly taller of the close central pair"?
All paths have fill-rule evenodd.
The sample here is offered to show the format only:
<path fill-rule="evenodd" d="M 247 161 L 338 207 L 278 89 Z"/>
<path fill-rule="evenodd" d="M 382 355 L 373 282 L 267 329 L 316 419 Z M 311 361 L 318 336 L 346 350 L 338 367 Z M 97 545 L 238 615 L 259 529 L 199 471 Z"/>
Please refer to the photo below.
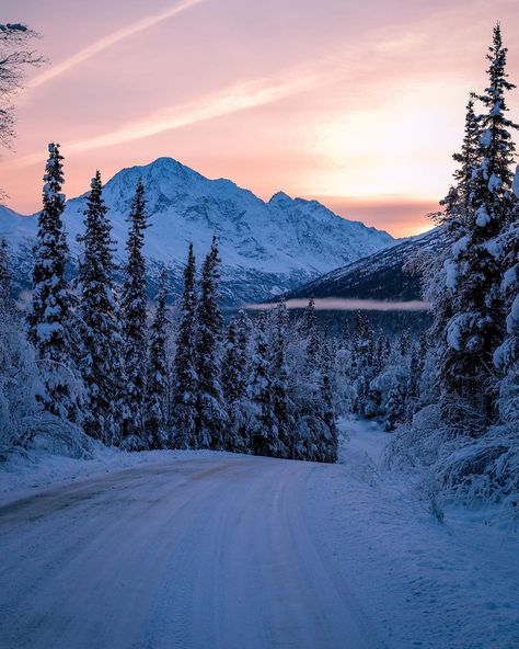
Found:
<path fill-rule="evenodd" d="M 196 368 L 198 448 L 219 449 L 228 424 L 221 389 L 221 353 L 223 317 L 219 306 L 220 258 L 218 241 L 211 248 L 201 267 L 200 297 L 196 311 Z"/>

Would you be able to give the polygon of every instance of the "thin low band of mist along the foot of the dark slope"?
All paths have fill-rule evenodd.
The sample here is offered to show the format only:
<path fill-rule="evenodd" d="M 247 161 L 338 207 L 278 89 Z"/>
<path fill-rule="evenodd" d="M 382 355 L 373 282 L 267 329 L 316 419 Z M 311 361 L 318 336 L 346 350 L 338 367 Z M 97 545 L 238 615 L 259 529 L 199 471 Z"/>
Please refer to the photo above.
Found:
<path fill-rule="evenodd" d="M 275 307 L 278 303 L 247 305 L 251 310 L 265 310 Z M 410 301 L 385 301 L 382 299 L 345 299 L 341 297 L 324 297 L 315 299 L 318 311 L 427 311 L 429 303 L 418 299 Z M 289 309 L 303 309 L 308 306 L 308 299 L 289 299 L 286 301 Z"/>

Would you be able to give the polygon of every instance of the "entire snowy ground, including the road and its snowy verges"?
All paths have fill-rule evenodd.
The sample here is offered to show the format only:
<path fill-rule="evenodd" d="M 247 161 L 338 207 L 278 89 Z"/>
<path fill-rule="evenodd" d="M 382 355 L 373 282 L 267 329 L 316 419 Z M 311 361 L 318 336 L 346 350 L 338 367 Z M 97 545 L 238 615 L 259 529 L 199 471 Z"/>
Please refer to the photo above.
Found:
<path fill-rule="evenodd" d="M 461 510 L 438 523 L 381 468 L 377 424 L 342 430 L 339 465 L 117 451 L 11 464 L 0 646 L 519 647 L 517 539 Z"/>

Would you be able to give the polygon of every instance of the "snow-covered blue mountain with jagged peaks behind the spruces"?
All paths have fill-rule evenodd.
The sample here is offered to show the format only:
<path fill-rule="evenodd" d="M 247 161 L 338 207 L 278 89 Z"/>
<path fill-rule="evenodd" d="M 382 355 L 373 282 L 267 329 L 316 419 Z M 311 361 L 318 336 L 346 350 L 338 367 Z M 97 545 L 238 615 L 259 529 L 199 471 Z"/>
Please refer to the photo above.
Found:
<path fill-rule="evenodd" d="M 106 183 L 117 257 L 124 259 L 126 218 L 137 180 L 145 183 L 150 228 L 145 253 L 153 284 L 169 269 L 171 288 L 180 288 L 187 243 L 198 262 L 214 232 L 220 241 L 222 294 L 228 304 L 269 299 L 346 263 L 394 243 L 387 232 L 337 216 L 316 201 L 282 192 L 265 203 L 229 180 L 209 180 L 172 158 L 123 169 Z M 72 258 L 83 230 L 85 195 L 67 202 L 64 221 Z M 0 235 L 12 244 L 22 287 L 27 284 L 36 215 L 0 209 Z M 72 260 L 73 263 L 73 260 Z"/>

